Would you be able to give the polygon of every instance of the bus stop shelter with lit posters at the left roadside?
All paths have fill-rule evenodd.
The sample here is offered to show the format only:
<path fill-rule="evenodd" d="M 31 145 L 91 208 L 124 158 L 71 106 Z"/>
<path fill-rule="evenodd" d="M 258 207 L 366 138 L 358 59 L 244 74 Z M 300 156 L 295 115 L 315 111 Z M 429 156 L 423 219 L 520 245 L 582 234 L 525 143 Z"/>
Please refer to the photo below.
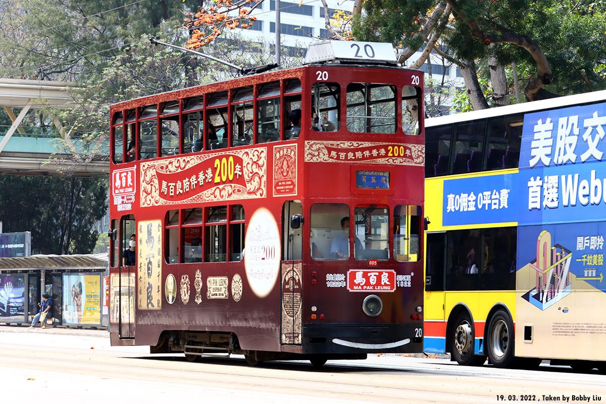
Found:
<path fill-rule="evenodd" d="M 0 323 L 30 322 L 48 293 L 53 325 L 107 326 L 107 275 L 107 253 L 0 258 Z"/>

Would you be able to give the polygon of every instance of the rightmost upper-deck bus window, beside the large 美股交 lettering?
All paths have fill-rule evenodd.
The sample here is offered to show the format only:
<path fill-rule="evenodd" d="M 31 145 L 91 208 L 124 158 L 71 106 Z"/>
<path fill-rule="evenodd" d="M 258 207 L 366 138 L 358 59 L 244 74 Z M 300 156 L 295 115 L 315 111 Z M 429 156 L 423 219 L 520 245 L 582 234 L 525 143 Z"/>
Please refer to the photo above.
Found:
<path fill-rule="evenodd" d="M 516 168 L 520 158 L 524 115 L 488 119 L 486 170 Z"/>

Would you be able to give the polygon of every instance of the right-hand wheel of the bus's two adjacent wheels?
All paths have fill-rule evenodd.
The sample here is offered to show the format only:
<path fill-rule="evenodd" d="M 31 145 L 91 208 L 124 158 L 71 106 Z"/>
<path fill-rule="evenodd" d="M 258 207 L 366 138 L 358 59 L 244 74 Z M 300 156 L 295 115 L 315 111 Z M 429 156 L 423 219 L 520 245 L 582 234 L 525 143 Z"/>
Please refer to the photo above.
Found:
<path fill-rule="evenodd" d="M 488 357 L 497 368 L 513 365 L 513 322 L 504 310 L 498 310 L 488 323 Z"/>

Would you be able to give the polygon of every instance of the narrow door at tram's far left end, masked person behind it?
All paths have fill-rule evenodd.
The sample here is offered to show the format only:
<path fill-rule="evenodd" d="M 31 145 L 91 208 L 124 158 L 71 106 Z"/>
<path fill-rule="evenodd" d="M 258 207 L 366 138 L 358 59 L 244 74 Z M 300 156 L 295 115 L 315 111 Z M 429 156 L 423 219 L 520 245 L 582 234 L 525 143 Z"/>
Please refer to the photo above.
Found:
<path fill-rule="evenodd" d="M 119 265 L 119 297 L 118 297 L 118 324 L 120 338 L 135 338 L 135 282 L 137 273 L 138 246 L 134 251 L 130 246 L 130 239 L 136 233 L 135 216 L 129 214 L 122 216 L 120 220 L 120 242 L 121 246 Z"/>

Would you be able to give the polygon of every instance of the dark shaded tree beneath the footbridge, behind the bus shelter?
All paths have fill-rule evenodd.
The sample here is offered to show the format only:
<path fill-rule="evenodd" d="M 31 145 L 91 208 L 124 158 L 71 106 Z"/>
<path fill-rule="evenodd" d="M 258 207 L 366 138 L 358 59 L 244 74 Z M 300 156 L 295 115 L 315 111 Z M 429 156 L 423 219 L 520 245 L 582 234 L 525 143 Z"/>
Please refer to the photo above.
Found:
<path fill-rule="evenodd" d="M 32 232 L 32 254 L 87 254 L 105 215 L 105 180 L 76 177 L 0 176 L 3 231 Z"/>

